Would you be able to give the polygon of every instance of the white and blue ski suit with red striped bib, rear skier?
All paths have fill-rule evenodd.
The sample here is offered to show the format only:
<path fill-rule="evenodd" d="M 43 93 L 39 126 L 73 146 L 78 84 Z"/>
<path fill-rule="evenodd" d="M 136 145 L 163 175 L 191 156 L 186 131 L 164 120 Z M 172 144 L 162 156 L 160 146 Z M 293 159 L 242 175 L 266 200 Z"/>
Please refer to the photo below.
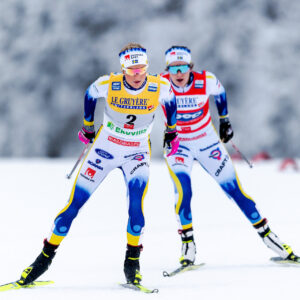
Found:
<path fill-rule="evenodd" d="M 169 78 L 168 73 L 163 76 Z M 239 182 L 231 158 L 213 127 L 209 96 L 213 95 L 219 116 L 226 117 L 225 89 L 216 76 L 207 71 L 191 72 L 184 88 L 171 82 L 177 102 L 177 130 L 180 145 L 177 153 L 166 158 L 175 189 L 175 212 L 179 229 L 192 228 L 191 171 L 194 160 L 216 180 L 233 199 L 252 225 L 262 221 L 253 199 Z"/>

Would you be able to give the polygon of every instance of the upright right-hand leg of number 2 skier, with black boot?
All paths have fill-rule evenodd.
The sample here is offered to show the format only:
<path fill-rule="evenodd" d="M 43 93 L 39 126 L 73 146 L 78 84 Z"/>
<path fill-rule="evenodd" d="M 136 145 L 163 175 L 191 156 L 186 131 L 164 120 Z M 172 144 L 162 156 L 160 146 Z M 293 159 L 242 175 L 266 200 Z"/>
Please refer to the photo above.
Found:
<path fill-rule="evenodd" d="M 127 282 L 134 284 L 137 284 L 142 280 L 139 258 L 143 248 L 142 234 L 145 226 L 143 202 L 148 189 L 149 160 L 149 153 L 142 155 L 138 154 L 137 156 L 131 157 L 122 166 L 124 179 L 127 185 L 129 214 L 124 273 Z"/>

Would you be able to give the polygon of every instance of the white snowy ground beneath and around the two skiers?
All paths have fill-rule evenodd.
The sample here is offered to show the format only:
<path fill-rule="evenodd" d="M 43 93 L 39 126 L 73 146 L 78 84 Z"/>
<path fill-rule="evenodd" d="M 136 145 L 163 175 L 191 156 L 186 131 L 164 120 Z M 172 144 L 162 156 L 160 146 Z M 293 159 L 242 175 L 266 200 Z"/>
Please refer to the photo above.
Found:
<path fill-rule="evenodd" d="M 73 160 L 0 160 L 0 284 L 19 278 L 36 258 L 43 238 L 65 205 Z M 299 173 L 278 171 L 278 161 L 253 169 L 236 163 L 245 191 L 274 232 L 300 253 Z M 163 278 L 178 264 L 180 239 L 173 214 L 173 187 L 164 162 L 153 162 L 145 199 L 146 230 L 141 256 L 146 295 L 118 286 L 126 245 L 123 176 L 113 171 L 74 221 L 51 268 L 41 279 L 55 284 L 3 292 L 0 299 L 295 299 L 300 268 L 269 262 L 267 249 L 233 202 L 198 166 L 193 169 L 193 217 L 198 271 Z"/>

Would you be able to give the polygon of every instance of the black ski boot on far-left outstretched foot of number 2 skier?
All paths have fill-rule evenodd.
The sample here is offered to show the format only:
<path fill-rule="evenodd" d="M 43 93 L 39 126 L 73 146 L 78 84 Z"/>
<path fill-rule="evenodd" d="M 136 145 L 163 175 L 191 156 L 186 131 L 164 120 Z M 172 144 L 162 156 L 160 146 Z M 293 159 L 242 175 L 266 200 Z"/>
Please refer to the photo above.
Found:
<path fill-rule="evenodd" d="M 58 246 L 50 244 L 46 239 L 44 240 L 44 248 L 36 260 L 26 268 L 18 281 L 21 285 L 27 285 L 35 281 L 44 272 L 46 272 L 51 265 L 52 259 L 55 256 L 55 251 Z"/>

